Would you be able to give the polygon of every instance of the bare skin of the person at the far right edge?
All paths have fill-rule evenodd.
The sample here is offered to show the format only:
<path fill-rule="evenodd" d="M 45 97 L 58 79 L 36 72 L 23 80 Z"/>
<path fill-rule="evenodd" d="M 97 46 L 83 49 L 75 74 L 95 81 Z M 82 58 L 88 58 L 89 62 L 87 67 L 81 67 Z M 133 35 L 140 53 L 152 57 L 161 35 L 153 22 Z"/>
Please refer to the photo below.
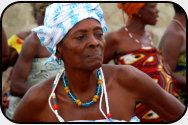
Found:
<path fill-rule="evenodd" d="M 174 19 L 180 21 L 182 26 L 186 27 L 186 17 L 184 13 L 175 13 Z M 186 77 L 175 73 L 179 55 L 186 53 L 186 33 L 176 22 L 171 22 L 161 38 L 159 49 L 162 50 L 162 56 L 173 71 L 179 88 L 186 91 Z"/>

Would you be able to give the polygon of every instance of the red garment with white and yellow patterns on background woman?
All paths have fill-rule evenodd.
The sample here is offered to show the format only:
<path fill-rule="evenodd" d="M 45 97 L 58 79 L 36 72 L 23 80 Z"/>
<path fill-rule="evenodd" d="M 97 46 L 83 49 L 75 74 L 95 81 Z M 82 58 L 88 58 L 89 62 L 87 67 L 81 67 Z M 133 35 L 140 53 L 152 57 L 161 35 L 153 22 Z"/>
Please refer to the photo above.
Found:
<path fill-rule="evenodd" d="M 115 58 L 118 65 L 132 65 L 148 74 L 164 90 L 177 96 L 177 88 L 174 86 L 175 80 L 172 78 L 172 72 L 156 48 L 143 48 L 135 50 Z M 154 111 L 145 105 L 138 103 L 136 105 L 136 116 L 140 122 L 163 122 Z"/>

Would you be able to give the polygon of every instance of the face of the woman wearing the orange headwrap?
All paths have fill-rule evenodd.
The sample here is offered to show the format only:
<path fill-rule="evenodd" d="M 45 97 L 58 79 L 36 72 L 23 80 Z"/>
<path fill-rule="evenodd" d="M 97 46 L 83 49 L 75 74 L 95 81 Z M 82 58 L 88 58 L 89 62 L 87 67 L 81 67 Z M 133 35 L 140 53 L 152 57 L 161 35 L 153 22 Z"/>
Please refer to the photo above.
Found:
<path fill-rule="evenodd" d="M 157 23 L 158 12 L 156 3 L 146 3 L 139 11 L 139 15 L 146 24 L 155 25 Z"/>

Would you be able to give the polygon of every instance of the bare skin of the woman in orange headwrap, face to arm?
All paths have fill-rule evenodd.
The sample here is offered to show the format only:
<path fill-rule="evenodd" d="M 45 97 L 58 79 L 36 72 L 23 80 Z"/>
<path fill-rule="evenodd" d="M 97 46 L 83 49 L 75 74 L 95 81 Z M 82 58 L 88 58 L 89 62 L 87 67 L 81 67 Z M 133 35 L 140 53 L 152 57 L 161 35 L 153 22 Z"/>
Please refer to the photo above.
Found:
<path fill-rule="evenodd" d="M 108 63 L 117 55 L 140 49 L 142 45 L 153 47 L 148 39 L 148 34 L 151 37 L 153 37 L 153 34 L 146 30 L 145 27 L 147 24 L 155 25 L 157 23 L 158 9 L 156 6 L 156 3 L 146 3 L 137 15 L 133 15 L 131 21 L 126 26 L 105 36 L 107 49 L 104 51 L 104 63 Z M 128 28 L 129 32 L 140 43 L 131 39 L 125 28 Z"/>

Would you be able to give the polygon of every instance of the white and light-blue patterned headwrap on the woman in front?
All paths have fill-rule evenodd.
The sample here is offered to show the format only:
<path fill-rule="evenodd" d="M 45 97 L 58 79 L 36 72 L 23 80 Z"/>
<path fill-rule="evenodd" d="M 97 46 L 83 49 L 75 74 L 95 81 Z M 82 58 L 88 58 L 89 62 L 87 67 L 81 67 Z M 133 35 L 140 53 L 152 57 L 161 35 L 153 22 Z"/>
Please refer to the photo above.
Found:
<path fill-rule="evenodd" d="M 107 31 L 98 3 L 54 3 L 46 8 L 44 26 L 32 29 L 37 32 L 41 44 L 52 53 L 46 64 L 58 62 L 55 56 L 57 44 L 75 24 L 87 18 L 98 20 L 103 33 Z"/>

